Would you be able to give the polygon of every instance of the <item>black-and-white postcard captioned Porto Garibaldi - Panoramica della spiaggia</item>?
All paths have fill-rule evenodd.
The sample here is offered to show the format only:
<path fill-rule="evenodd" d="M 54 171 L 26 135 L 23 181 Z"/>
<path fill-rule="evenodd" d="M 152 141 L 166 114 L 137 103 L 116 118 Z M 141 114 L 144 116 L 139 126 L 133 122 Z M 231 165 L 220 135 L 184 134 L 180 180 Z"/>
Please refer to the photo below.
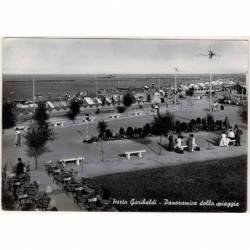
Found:
<path fill-rule="evenodd" d="M 3 38 L 2 210 L 245 212 L 249 41 Z"/>

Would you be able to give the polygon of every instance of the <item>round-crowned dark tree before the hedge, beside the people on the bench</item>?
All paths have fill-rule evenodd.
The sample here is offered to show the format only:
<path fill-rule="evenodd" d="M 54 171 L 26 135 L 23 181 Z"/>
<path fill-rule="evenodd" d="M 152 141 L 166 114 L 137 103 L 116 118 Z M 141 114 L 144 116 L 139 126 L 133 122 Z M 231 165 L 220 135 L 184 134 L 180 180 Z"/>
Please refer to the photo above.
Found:
<path fill-rule="evenodd" d="M 159 154 L 161 154 L 162 136 L 165 135 L 165 134 L 168 134 L 170 131 L 172 131 L 174 129 L 174 125 L 175 125 L 174 114 L 169 112 L 169 111 L 167 111 L 164 114 L 158 113 L 157 116 L 154 117 L 154 120 L 153 120 L 153 123 L 152 123 L 153 131 L 154 131 L 155 134 L 160 135 L 160 141 L 159 141 L 160 151 L 159 151 Z"/>

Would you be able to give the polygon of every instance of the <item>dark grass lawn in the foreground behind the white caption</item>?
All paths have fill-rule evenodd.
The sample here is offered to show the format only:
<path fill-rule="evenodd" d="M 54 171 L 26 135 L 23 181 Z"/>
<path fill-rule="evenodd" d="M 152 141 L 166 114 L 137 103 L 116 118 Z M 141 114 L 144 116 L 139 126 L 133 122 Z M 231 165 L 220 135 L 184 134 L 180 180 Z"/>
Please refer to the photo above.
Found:
<path fill-rule="evenodd" d="M 247 156 L 99 176 L 92 180 L 108 189 L 114 200 L 127 202 L 115 205 L 119 211 L 246 210 Z M 133 198 L 155 199 L 156 204 L 131 206 Z M 168 200 L 165 205 L 164 199 Z M 183 204 L 183 201 L 192 203 Z M 206 206 L 200 204 L 202 201 Z"/>

